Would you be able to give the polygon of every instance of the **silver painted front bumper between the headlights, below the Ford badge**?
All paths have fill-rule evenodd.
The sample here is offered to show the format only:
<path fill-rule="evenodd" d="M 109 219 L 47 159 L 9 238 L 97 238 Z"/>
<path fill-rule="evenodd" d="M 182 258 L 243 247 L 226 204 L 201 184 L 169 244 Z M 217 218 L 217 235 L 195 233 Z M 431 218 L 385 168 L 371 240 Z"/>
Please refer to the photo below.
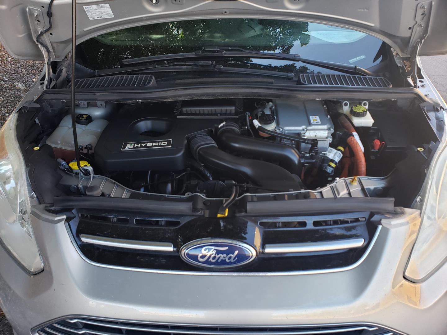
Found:
<path fill-rule="evenodd" d="M 29 276 L 0 247 L 0 304 L 18 335 L 71 315 L 228 326 L 361 323 L 396 334 L 447 334 L 447 265 L 422 283 L 403 278 L 420 224 L 413 209 L 382 220 L 374 246 L 357 267 L 288 276 L 99 267 L 76 251 L 63 216 L 45 214 L 40 206 L 32 224 L 42 273 Z"/>

